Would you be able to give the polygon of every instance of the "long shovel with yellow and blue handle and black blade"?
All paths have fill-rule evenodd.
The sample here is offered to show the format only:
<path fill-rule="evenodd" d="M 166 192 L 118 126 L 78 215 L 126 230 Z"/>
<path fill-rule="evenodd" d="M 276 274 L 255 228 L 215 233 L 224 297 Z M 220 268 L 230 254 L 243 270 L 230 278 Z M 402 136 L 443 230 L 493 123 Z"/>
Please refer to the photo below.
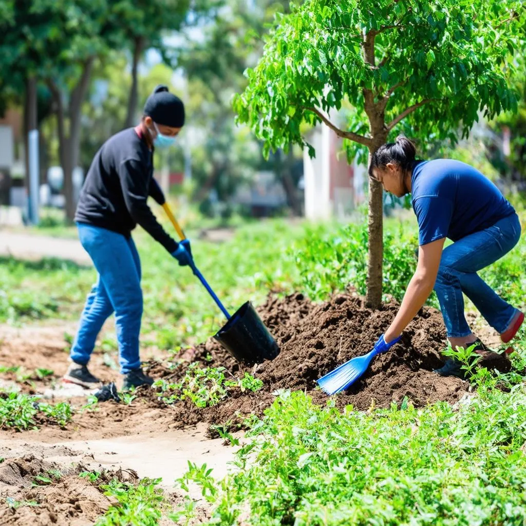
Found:
<path fill-rule="evenodd" d="M 179 226 L 168 203 L 165 202 L 163 208 L 181 241 L 186 239 L 185 233 Z M 214 335 L 214 338 L 228 351 L 230 356 L 248 366 L 276 358 L 279 355 L 278 344 L 259 318 L 251 302 L 245 302 L 233 316 L 230 316 L 227 309 L 195 266 L 193 258 L 190 258 L 190 268 L 228 320 Z"/>

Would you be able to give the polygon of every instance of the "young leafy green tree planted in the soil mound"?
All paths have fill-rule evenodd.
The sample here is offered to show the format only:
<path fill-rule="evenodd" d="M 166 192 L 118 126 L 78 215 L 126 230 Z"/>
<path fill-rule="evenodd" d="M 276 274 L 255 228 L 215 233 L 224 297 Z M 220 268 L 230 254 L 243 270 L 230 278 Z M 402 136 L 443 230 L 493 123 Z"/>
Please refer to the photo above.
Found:
<path fill-rule="evenodd" d="M 506 70 L 524 20 L 521 0 L 307 0 L 277 18 L 247 70 L 249 85 L 234 98 L 238 120 L 267 151 L 309 146 L 304 122 L 325 123 L 369 159 L 400 129 L 454 142 L 480 110 L 491 117 L 517 106 Z M 327 116 L 343 102 L 353 108 L 345 129 Z M 367 304 L 377 308 L 381 292 L 382 188 L 370 180 Z"/>

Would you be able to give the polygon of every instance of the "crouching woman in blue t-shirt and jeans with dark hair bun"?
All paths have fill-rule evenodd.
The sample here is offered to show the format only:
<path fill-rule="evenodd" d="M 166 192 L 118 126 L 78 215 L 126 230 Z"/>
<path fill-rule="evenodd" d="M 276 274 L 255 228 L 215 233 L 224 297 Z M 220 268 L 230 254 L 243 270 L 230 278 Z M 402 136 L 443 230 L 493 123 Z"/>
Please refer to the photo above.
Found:
<path fill-rule="evenodd" d="M 521 226 L 515 210 L 499 189 L 478 170 L 452 159 L 416 161 L 409 139 L 381 146 L 372 156 L 369 176 L 401 197 L 411 193 L 419 227 L 418 265 L 400 309 L 377 346 L 388 350 L 434 290 L 453 348 L 483 343 L 464 317 L 462 293 L 509 342 L 524 321 L 523 313 L 500 298 L 477 272 L 500 259 L 519 241 Z M 446 238 L 452 245 L 444 247 Z M 443 376 L 464 376 L 460 364 L 448 360 Z"/>

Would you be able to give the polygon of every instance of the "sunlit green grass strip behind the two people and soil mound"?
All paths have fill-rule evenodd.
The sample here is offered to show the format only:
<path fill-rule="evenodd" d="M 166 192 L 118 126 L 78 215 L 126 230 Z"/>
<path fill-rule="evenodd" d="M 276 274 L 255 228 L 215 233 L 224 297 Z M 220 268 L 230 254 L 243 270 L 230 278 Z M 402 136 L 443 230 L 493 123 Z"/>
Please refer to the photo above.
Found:
<path fill-rule="evenodd" d="M 386 219 L 385 225 L 383 291 L 386 299 L 392 295 L 400 300 L 416 268 L 417 224 L 409 216 Z M 170 230 L 166 222 L 165 226 Z M 145 345 L 177 350 L 204 341 L 224 325 L 224 316 L 188 268 L 179 267 L 140 229 L 134 237 L 143 268 Z M 230 312 L 246 300 L 260 303 L 269 290 L 297 289 L 315 300 L 349 284 L 362 294 L 366 291 L 365 224 L 290 226 L 281 220 L 261 221 L 238 228 L 224 243 L 193 239 L 193 252 Z M 480 274 L 503 297 L 524 306 L 526 238 Z M 70 262 L 4 258 L 0 260 L 0 322 L 75 319 L 94 280 L 92 268 Z M 434 294 L 428 303 L 438 306 Z M 115 347 L 112 338 L 103 342 L 104 351 Z"/>

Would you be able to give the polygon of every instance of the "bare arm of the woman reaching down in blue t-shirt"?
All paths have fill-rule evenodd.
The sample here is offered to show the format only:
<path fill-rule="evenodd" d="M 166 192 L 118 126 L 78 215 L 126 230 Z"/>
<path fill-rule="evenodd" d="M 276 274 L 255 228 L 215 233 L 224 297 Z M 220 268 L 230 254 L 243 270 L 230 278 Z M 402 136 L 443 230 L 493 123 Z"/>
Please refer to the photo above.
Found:
<path fill-rule="evenodd" d="M 409 281 L 395 319 L 385 332 L 384 338 L 387 343 L 401 335 L 429 298 L 437 279 L 445 241 L 446 238 L 437 239 L 418 248 L 417 270 Z"/>

